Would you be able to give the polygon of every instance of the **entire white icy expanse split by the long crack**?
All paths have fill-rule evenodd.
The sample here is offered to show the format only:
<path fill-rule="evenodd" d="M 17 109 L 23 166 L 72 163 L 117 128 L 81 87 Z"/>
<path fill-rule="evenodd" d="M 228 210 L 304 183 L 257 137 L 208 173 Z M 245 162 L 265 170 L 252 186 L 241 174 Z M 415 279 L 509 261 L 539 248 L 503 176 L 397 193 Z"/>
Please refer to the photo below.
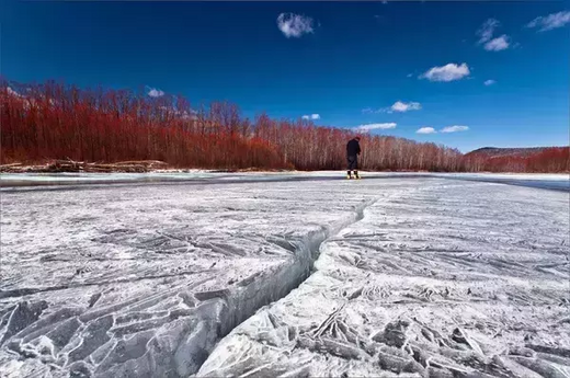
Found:
<path fill-rule="evenodd" d="M 567 192 L 248 177 L 3 188 L 0 376 L 570 376 Z"/>

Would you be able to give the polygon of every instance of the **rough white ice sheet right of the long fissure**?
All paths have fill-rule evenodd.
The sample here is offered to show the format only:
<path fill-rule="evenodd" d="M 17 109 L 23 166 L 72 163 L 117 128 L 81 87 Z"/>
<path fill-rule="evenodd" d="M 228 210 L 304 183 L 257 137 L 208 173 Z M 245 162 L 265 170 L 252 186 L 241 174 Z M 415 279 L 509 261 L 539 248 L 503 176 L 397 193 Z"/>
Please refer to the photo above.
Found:
<path fill-rule="evenodd" d="M 570 375 L 567 194 L 378 191 L 321 244 L 316 273 L 236 328 L 198 376 Z"/>

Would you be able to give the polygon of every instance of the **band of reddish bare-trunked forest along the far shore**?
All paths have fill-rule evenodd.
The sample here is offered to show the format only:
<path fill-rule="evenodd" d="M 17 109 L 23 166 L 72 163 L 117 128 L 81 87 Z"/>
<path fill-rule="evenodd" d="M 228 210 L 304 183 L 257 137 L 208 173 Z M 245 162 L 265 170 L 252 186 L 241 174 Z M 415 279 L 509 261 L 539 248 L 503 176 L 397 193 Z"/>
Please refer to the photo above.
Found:
<path fill-rule="evenodd" d="M 160 160 L 178 168 L 343 170 L 353 130 L 310 121 L 255 119 L 237 105 L 191 107 L 181 96 L 80 90 L 56 82 L 14 91 L 0 82 L 0 163 L 50 159 Z M 428 142 L 362 135 L 364 170 L 568 172 L 569 148 L 489 157 Z"/>

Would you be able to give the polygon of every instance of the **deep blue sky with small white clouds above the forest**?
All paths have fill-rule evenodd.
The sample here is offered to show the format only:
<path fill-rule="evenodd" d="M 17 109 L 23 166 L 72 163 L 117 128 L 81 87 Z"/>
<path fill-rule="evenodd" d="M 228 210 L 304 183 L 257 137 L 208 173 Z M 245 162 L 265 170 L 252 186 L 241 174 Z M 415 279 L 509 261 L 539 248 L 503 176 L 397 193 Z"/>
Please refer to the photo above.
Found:
<path fill-rule="evenodd" d="M 569 142 L 570 1 L 1 1 L 9 80 L 149 85 L 461 151 Z"/>

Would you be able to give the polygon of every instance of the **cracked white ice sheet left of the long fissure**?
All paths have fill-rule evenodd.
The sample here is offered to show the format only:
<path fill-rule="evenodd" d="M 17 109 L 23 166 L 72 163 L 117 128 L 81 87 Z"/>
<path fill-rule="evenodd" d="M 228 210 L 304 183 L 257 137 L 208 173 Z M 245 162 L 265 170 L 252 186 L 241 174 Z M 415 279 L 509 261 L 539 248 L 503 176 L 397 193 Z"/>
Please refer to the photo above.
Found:
<path fill-rule="evenodd" d="M 372 198 L 332 183 L 4 192 L 0 371 L 193 374 Z"/>

